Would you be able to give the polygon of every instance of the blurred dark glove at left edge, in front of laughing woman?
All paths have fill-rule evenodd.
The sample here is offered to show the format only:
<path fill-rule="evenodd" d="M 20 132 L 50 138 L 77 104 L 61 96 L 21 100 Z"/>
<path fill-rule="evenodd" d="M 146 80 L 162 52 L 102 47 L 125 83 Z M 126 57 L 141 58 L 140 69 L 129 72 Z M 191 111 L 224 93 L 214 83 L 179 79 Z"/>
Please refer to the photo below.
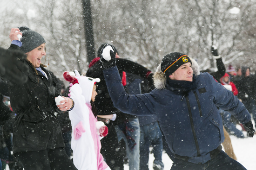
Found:
<path fill-rule="evenodd" d="M 19 67 L 22 71 L 28 70 L 27 65 L 17 59 L 24 59 L 26 57 L 20 51 L 9 51 L 0 48 L 0 76 L 16 83 L 27 82 L 27 76 L 17 69 Z"/>

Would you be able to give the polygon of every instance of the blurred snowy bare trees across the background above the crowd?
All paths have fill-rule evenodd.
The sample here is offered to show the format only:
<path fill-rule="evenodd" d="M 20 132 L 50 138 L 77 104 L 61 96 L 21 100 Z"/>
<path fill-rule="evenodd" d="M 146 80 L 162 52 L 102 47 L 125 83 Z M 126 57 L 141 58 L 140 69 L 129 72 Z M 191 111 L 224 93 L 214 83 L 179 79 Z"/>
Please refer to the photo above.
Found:
<path fill-rule="evenodd" d="M 211 45 L 225 64 L 255 65 L 256 0 L 91 0 L 95 50 L 113 44 L 123 58 L 155 70 L 162 57 L 179 51 L 214 66 Z M 0 46 L 12 27 L 27 26 L 47 41 L 52 70 L 88 69 L 81 0 L 0 2 Z M 96 51 L 95 51 L 96 52 Z"/>

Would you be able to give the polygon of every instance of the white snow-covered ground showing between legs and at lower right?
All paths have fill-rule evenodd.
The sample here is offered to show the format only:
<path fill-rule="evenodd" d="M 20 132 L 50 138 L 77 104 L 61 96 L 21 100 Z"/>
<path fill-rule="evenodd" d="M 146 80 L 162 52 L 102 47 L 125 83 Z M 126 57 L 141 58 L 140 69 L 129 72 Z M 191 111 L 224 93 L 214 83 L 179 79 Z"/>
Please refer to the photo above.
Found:
<path fill-rule="evenodd" d="M 246 134 L 246 132 L 244 132 Z M 245 135 L 246 136 L 246 135 Z M 256 135 L 253 138 L 238 139 L 235 136 L 230 136 L 237 161 L 242 164 L 247 170 L 256 170 Z M 153 154 L 149 155 L 149 170 L 153 170 Z M 163 151 L 162 161 L 164 170 L 170 170 L 172 160 L 167 153 Z M 129 170 L 127 164 L 124 165 L 124 170 Z"/>

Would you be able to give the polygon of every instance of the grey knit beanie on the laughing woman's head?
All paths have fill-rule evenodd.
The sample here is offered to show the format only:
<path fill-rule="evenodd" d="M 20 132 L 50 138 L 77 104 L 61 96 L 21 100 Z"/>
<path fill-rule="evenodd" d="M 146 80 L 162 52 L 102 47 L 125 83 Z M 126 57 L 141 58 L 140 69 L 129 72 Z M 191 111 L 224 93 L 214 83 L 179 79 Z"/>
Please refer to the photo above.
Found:
<path fill-rule="evenodd" d="M 36 31 L 30 30 L 26 26 L 21 26 L 19 29 L 22 33 L 22 38 L 20 38 L 22 43 L 20 50 L 24 53 L 34 50 L 36 47 L 45 43 L 45 39 Z"/>

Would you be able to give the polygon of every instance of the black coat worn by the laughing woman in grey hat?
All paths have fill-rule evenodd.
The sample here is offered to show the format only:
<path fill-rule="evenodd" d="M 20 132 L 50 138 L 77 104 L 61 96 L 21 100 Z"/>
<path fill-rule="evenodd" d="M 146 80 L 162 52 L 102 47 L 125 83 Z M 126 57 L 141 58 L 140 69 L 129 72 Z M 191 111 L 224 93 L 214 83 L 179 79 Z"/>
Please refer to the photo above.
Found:
<path fill-rule="evenodd" d="M 11 44 L 8 50 L 20 50 L 20 47 Z M 36 75 L 34 66 L 27 60 L 20 62 L 27 64 L 29 70 L 20 70 L 28 77 L 26 83 L 9 82 L 11 106 L 17 113 L 13 126 L 13 153 L 65 147 L 60 124 L 54 115 L 61 111 L 54 101 L 59 94 L 51 75 L 41 67 L 47 80 L 39 71 Z"/>

